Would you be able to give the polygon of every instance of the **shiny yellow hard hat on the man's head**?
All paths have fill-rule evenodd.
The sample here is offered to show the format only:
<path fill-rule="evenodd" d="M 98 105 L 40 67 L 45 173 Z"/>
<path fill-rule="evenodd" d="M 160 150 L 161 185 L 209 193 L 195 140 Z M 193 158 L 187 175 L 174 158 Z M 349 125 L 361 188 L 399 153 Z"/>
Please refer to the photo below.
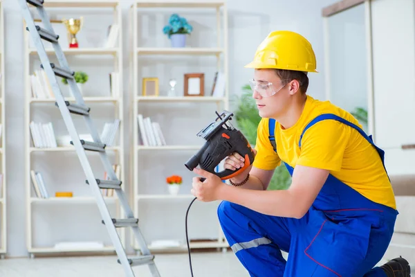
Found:
<path fill-rule="evenodd" d="M 244 67 L 318 72 L 316 63 L 313 47 L 305 37 L 288 30 L 277 30 L 259 44 L 254 60 Z"/>

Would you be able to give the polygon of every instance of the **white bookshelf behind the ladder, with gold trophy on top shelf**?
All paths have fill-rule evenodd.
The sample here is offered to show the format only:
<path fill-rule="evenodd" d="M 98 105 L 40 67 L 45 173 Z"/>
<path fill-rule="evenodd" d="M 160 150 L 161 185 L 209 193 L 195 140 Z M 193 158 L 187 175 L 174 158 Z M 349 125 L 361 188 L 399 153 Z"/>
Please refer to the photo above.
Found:
<path fill-rule="evenodd" d="M 113 45 L 105 45 L 109 26 L 122 24 L 122 10 L 119 1 L 45 1 L 44 6 L 50 19 L 57 21 L 71 17 L 83 17 L 84 24 L 77 39 L 79 48 L 69 48 L 66 27 L 62 23 L 53 22 L 53 28 L 59 35 L 61 45 L 68 64 L 73 71 L 84 71 L 89 80 L 84 84 L 82 94 L 86 105 L 91 107 L 91 118 L 98 132 L 102 134 L 105 123 L 113 123 L 119 119 L 113 143 L 107 145 L 107 154 L 111 163 L 118 165 L 119 177 L 124 186 L 124 111 L 122 86 L 122 28 L 118 28 L 118 37 Z M 39 19 L 38 13 L 33 15 Z M 100 22 L 101 20 L 101 22 Z M 100 22 L 100 23 L 98 23 Z M 35 24 L 42 26 L 42 22 Z M 95 198 L 91 195 L 89 185 L 75 148 L 68 143 L 71 137 L 59 109 L 55 106 L 55 98 L 33 93 L 30 75 L 41 70 L 37 50 L 26 31 L 25 42 L 25 186 L 26 186 L 26 234 L 27 249 L 30 256 L 52 253 L 107 253 L 115 251 L 107 229 L 102 224 Z M 42 41 L 44 42 L 44 41 Z M 57 62 L 51 44 L 44 42 L 51 62 Z M 118 80 L 113 79 L 110 86 L 110 73 L 118 73 Z M 65 99 L 74 101 L 68 86 L 57 77 L 59 87 Z M 89 129 L 82 116 L 72 115 L 80 139 L 87 139 Z M 56 141 L 49 147 L 35 145 L 30 131 L 30 123 L 52 123 L 54 136 L 46 134 L 46 138 Z M 53 146 L 53 147 L 50 147 Z M 97 179 L 104 179 L 104 168 L 98 153 L 87 152 L 89 161 Z M 36 193 L 31 170 L 40 172 L 48 197 Z M 38 184 L 38 186 L 41 186 Z M 56 197 L 56 192 L 72 192 L 72 197 Z M 103 193 L 112 217 L 121 218 L 122 208 L 115 193 Z M 125 231 L 119 229 L 119 235 L 125 243 Z M 72 242 L 56 247 L 57 244 Z M 100 242 L 102 245 L 93 244 Z"/>

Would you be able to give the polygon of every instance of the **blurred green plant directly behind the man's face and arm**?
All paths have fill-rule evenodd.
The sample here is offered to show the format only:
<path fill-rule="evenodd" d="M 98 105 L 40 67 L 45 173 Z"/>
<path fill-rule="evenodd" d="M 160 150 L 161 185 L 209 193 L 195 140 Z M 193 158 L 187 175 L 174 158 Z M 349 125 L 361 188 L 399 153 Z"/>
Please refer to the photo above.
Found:
<path fill-rule="evenodd" d="M 237 97 L 237 107 L 234 109 L 234 118 L 239 130 L 249 143 L 254 145 L 257 140 L 257 127 L 261 116 L 258 114 L 257 105 L 252 98 L 252 90 L 249 84 L 242 87 L 241 96 Z M 284 162 L 277 168 L 270 181 L 268 190 L 285 190 L 291 185 L 291 175 L 286 169 Z"/>

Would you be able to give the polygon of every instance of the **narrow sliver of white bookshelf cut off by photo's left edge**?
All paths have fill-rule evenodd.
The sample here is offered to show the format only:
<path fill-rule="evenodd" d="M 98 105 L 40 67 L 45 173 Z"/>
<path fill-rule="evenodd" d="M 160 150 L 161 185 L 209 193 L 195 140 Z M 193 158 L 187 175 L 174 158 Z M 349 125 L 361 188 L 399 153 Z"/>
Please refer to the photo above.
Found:
<path fill-rule="evenodd" d="M 0 109 L 1 109 L 1 120 L 0 120 L 0 157 L 1 157 L 1 172 L 0 172 L 0 257 L 4 258 L 7 251 L 7 197 L 6 197 L 6 96 L 5 96 L 5 68 L 4 68 L 4 11 L 3 1 L 0 0 Z"/>

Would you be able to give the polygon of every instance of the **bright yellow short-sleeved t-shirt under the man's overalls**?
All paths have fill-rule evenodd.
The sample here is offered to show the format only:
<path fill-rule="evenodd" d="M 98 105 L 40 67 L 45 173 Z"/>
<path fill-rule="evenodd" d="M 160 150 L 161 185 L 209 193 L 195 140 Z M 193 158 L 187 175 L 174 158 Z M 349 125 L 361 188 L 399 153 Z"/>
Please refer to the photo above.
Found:
<path fill-rule="evenodd" d="M 394 191 L 376 149 L 356 129 L 338 120 L 322 120 L 307 129 L 306 125 L 320 114 L 335 114 L 362 127 L 349 112 L 329 101 L 307 96 L 304 111 L 295 125 L 283 129 L 275 123 L 277 153 L 268 139 L 268 118 L 258 126 L 253 166 L 273 170 L 284 161 L 296 165 L 330 170 L 331 175 L 372 201 L 396 208 Z"/>

